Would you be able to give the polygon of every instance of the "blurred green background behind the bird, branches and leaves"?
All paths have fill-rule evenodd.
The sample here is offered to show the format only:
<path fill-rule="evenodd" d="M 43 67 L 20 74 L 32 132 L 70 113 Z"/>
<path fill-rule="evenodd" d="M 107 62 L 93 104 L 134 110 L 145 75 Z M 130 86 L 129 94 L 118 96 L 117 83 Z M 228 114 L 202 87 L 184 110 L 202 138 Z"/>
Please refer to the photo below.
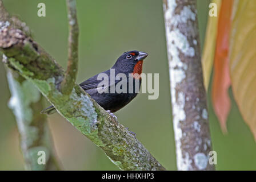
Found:
<path fill-rule="evenodd" d="M 66 68 L 67 15 L 64 0 L 4 0 L 6 9 L 18 15 L 33 31 L 34 39 Z M 46 5 L 46 17 L 37 16 L 37 5 Z M 205 36 L 209 1 L 198 0 L 201 46 Z M 137 138 L 166 169 L 175 170 L 175 143 L 171 122 L 169 72 L 161 0 L 77 0 L 79 36 L 79 73 L 82 82 L 109 69 L 125 51 L 149 53 L 143 72 L 159 73 L 159 98 L 148 100 L 139 94 L 124 109 L 115 113 L 118 121 L 137 134 Z M 22 170 L 23 159 L 14 115 L 7 107 L 10 98 L 3 64 L 0 63 L 0 169 Z M 208 93 L 213 150 L 217 151 L 218 170 L 255 170 L 256 145 L 232 99 L 223 135 L 213 113 Z M 46 106 L 49 103 L 46 101 Z M 117 170 L 103 151 L 74 129 L 59 114 L 49 116 L 55 150 L 64 169 Z"/>

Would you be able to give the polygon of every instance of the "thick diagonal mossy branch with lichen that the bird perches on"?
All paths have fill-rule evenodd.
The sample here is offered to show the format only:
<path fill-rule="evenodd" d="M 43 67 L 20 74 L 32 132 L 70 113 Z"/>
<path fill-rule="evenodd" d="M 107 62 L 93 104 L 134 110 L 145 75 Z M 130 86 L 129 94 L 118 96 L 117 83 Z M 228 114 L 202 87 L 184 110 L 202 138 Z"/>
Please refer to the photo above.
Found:
<path fill-rule="evenodd" d="M 111 162 L 123 170 L 165 170 L 123 125 L 97 104 L 80 86 L 63 94 L 63 69 L 33 39 L 17 28 L 0 31 L 0 51 L 9 64 L 31 81 L 58 113 L 102 148 Z"/>

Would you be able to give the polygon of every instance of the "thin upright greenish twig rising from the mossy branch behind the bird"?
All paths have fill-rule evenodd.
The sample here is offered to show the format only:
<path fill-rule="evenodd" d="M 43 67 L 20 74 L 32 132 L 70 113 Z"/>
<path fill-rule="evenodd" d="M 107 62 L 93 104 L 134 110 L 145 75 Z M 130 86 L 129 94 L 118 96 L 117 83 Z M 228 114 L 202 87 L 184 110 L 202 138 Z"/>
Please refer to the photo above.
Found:
<path fill-rule="evenodd" d="M 70 94 L 75 85 L 78 71 L 78 22 L 75 0 L 66 0 L 67 16 L 69 19 L 69 61 L 65 77 L 61 82 L 61 92 Z"/>

